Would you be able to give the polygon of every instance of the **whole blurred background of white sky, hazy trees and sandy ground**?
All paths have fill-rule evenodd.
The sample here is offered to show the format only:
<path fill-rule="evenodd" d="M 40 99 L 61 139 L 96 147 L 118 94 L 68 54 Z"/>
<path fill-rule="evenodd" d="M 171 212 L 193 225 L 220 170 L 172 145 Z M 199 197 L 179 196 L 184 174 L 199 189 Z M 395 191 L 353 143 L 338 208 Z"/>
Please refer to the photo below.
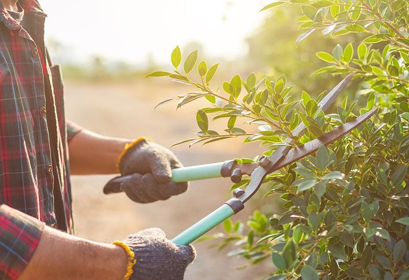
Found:
<path fill-rule="evenodd" d="M 166 78 L 143 78 L 153 70 L 172 70 L 170 54 L 176 45 L 184 58 L 198 49 L 199 60 L 205 59 L 208 65 L 220 62 L 212 82 L 215 89 L 236 73 L 245 79 L 253 71 L 258 78 L 263 73 L 271 78 L 284 73 L 287 83 L 297 85 L 293 94 L 304 89 L 316 96 L 340 80 L 326 75 L 311 77 L 314 70 L 326 66 L 315 52 L 331 53 L 331 39 L 316 40 L 321 35 L 312 34 L 297 46 L 295 40 L 302 33 L 295 20 L 298 9 L 259 12 L 269 0 L 40 3 L 48 14 L 46 37 L 53 63 L 63 69 L 67 118 L 103 135 L 146 136 L 165 147 L 194 136 L 198 131 L 195 113 L 202 107 L 201 101 L 177 111 L 176 104 L 154 110 L 160 101 L 192 89 Z M 354 42 L 355 38 L 348 35 L 342 40 Z M 213 128 L 221 130 L 223 126 L 215 123 Z M 191 148 L 183 144 L 172 150 L 185 166 L 254 158 L 262 153 L 257 145 L 241 145 L 242 140 Z M 110 242 L 156 226 L 172 238 L 231 197 L 229 180 L 213 179 L 192 182 L 187 193 L 167 201 L 137 205 L 123 194 L 103 195 L 102 188 L 111 177 L 72 177 L 77 235 Z M 247 203 L 245 211 L 233 220 L 245 220 L 254 203 L 260 208 L 266 200 L 255 201 Z M 265 207 L 271 205 L 274 201 Z M 208 248 L 211 244 L 194 244 L 198 257 L 189 266 L 186 279 L 260 279 L 274 269 L 269 261 L 245 268 L 244 259 L 226 256 L 229 248 L 218 253 Z"/>

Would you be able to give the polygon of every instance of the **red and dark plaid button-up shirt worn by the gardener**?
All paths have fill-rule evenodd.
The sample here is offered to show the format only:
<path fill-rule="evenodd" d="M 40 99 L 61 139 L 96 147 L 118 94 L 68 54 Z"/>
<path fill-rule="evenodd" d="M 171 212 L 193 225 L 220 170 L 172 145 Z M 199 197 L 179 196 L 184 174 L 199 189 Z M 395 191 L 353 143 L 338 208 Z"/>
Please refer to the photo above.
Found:
<path fill-rule="evenodd" d="M 44 45 L 47 15 L 36 0 L 19 4 L 20 23 L 0 4 L 0 278 L 12 279 L 41 222 L 72 232 L 67 140 L 79 131 L 65 122 L 61 71 Z"/>

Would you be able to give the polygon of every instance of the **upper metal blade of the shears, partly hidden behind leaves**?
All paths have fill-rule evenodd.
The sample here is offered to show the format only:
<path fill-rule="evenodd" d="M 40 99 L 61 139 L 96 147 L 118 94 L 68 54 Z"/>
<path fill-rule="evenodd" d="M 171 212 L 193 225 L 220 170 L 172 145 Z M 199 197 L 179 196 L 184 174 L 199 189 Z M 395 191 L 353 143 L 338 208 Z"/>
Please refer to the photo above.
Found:
<path fill-rule="evenodd" d="M 348 85 L 349 81 L 351 81 L 352 77 L 354 76 L 355 72 L 350 73 L 347 77 L 345 77 L 344 80 L 339 82 L 318 104 L 318 111 L 317 114 L 322 110 L 325 112 L 331 104 L 334 102 L 336 97 L 338 97 L 339 93 L 343 91 L 343 89 Z M 303 122 L 301 122 L 296 129 L 293 130 L 292 135 L 297 136 L 304 130 L 305 125 Z M 287 138 L 284 140 L 284 142 L 291 143 L 293 140 L 291 138 Z M 280 146 L 278 147 L 269 157 L 268 159 L 271 162 L 271 165 L 274 166 L 276 163 L 281 160 L 287 152 L 289 152 L 291 149 L 291 146 Z"/>

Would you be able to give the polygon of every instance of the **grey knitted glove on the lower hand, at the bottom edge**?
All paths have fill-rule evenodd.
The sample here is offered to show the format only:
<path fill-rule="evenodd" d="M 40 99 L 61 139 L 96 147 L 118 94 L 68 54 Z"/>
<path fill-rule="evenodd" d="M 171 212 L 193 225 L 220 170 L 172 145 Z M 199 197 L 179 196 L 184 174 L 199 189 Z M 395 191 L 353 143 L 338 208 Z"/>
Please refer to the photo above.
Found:
<path fill-rule="evenodd" d="M 160 228 L 129 235 L 124 242 L 137 260 L 130 279 L 183 279 L 187 266 L 196 258 L 192 245 L 172 243 Z"/>

